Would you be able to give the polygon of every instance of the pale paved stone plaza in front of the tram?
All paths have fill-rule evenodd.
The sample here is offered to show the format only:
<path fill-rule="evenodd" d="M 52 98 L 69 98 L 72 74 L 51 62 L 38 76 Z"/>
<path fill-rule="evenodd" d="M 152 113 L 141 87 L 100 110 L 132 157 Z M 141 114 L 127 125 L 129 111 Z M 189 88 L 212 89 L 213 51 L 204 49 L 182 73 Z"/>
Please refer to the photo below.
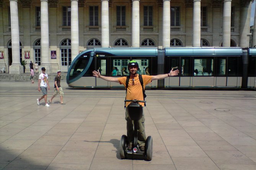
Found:
<path fill-rule="evenodd" d="M 147 90 L 145 161 L 119 155 L 125 90 L 61 85 L 65 104 L 45 107 L 37 83 L 0 82 L 0 169 L 256 169 L 256 91 Z"/>

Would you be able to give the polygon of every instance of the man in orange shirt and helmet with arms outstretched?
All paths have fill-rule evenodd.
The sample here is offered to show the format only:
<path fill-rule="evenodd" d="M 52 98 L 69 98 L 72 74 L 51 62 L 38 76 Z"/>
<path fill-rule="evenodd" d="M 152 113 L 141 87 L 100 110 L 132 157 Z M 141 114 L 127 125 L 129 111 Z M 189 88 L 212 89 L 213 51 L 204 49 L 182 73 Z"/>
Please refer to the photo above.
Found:
<path fill-rule="evenodd" d="M 127 77 L 106 77 L 99 73 L 99 71 L 93 71 L 93 76 L 101 78 L 103 80 L 109 81 L 109 82 L 117 82 L 120 84 L 123 84 L 127 88 L 126 93 L 126 99 L 127 100 L 144 100 L 143 97 L 143 91 L 142 91 L 142 85 L 139 80 L 139 74 L 137 74 L 139 68 L 139 64 L 136 61 L 130 61 L 128 64 L 128 70 L 130 72 L 130 78 L 128 87 L 126 87 L 126 79 Z M 179 70 L 171 71 L 168 74 L 159 74 L 159 75 L 142 75 L 143 79 L 143 88 L 145 89 L 145 86 L 152 82 L 153 80 L 159 80 L 159 79 L 165 79 L 166 77 L 171 77 L 179 74 Z M 130 102 L 126 102 L 126 108 L 130 104 Z M 140 103 L 140 105 L 144 106 L 144 103 Z M 133 141 L 133 124 L 132 120 L 128 117 L 128 112 L 126 109 L 126 121 L 127 121 L 127 140 L 128 140 L 128 150 L 132 150 L 132 141 Z M 145 151 L 145 142 L 147 140 L 146 134 L 145 134 L 145 125 L 144 125 L 144 114 L 142 115 L 142 119 L 139 120 L 139 133 L 138 133 L 138 143 L 140 146 L 141 151 Z"/>

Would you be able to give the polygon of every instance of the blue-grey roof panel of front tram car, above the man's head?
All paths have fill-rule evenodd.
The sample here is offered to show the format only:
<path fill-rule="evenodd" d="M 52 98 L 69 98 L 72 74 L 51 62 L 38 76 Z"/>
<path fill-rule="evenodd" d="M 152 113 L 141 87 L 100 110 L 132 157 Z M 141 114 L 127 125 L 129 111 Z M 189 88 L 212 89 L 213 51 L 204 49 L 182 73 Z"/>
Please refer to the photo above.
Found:
<path fill-rule="evenodd" d="M 94 48 L 95 56 L 157 56 L 157 48 Z"/>

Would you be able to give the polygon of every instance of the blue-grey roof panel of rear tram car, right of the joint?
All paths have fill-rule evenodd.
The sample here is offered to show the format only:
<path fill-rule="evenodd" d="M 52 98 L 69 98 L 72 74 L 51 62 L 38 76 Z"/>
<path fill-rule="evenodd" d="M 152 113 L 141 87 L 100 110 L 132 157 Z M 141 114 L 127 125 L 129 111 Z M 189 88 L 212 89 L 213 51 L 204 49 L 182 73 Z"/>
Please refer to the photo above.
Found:
<path fill-rule="evenodd" d="M 240 47 L 177 47 L 165 48 L 165 56 L 241 56 Z"/>

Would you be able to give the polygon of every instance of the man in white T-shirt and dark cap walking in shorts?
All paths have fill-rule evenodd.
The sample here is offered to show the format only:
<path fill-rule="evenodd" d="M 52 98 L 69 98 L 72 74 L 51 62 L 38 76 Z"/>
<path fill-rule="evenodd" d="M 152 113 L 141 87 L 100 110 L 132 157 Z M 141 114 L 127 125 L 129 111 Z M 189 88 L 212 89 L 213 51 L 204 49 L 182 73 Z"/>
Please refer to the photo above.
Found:
<path fill-rule="evenodd" d="M 42 73 L 38 77 L 38 91 L 42 90 L 43 95 L 41 96 L 41 98 L 36 100 L 38 102 L 38 105 L 40 105 L 39 102 L 41 101 L 41 99 L 44 99 L 45 106 L 50 107 L 49 104 L 47 103 L 47 87 L 48 87 L 48 90 L 50 90 L 48 75 L 45 73 L 46 69 L 44 67 L 42 67 L 41 70 L 42 70 Z"/>

